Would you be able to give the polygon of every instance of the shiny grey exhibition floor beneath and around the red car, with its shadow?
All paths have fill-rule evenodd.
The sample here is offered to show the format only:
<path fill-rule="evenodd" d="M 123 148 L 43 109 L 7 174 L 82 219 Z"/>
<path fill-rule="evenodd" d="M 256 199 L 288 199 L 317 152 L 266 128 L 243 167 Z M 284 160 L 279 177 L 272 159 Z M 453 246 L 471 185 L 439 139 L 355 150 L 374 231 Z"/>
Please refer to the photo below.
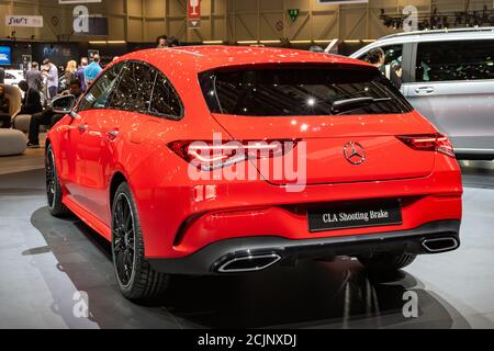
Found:
<path fill-rule="evenodd" d="M 21 169 L 0 159 L 0 328 L 494 328 L 491 162 L 463 163 L 457 251 L 418 257 L 381 279 L 344 258 L 177 278 L 162 301 L 139 306 L 121 296 L 109 245 L 79 219 L 48 214 L 42 151 L 29 152 Z M 402 313 L 407 291 L 418 296 L 418 317 Z"/>

